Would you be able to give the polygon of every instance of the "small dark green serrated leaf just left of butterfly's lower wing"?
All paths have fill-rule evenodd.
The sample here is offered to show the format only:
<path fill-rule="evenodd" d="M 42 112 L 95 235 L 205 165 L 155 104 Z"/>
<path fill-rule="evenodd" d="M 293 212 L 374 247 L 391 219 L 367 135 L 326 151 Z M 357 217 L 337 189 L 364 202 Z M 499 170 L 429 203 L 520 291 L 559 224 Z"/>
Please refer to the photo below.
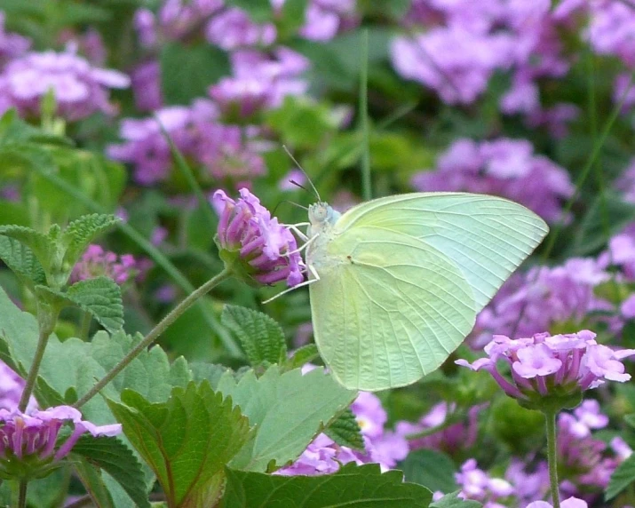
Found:
<path fill-rule="evenodd" d="M 282 363 L 287 343 L 281 326 L 268 315 L 241 306 L 225 306 L 220 322 L 241 341 L 252 367 Z"/>

